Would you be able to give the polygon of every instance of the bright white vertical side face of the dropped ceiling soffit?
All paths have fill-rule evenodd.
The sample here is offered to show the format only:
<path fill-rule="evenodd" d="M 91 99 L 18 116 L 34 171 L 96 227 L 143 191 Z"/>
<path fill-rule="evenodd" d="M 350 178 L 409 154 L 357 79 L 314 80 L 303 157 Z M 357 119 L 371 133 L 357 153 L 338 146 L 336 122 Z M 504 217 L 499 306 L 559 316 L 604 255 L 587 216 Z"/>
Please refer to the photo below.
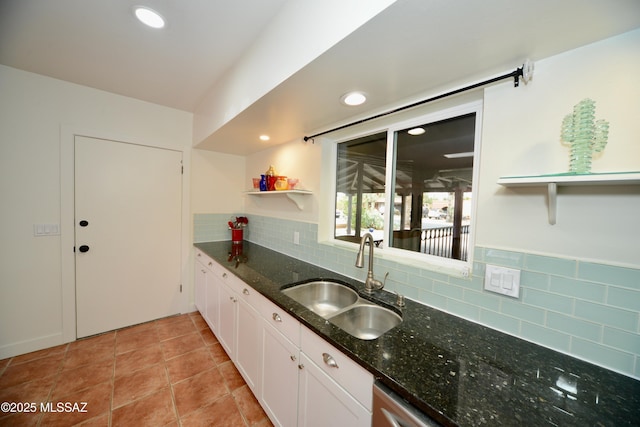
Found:
<path fill-rule="evenodd" d="M 287 2 L 238 64 L 204 95 L 195 114 L 194 145 L 395 1 Z"/>

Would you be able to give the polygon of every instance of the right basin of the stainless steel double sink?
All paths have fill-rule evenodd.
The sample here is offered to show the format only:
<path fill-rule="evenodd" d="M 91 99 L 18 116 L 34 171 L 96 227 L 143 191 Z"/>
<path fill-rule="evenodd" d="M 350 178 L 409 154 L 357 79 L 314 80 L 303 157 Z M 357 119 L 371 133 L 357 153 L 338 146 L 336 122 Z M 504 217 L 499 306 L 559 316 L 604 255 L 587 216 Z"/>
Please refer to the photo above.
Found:
<path fill-rule="evenodd" d="M 362 340 L 373 340 L 402 322 L 402 317 L 377 305 L 355 305 L 329 318 L 345 332 Z"/>

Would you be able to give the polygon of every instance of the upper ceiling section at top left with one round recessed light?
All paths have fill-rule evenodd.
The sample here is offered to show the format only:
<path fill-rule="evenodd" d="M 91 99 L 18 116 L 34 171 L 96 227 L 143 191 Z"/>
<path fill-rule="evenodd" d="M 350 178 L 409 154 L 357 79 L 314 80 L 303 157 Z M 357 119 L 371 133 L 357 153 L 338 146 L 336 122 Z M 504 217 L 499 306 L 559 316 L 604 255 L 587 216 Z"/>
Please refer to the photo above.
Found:
<path fill-rule="evenodd" d="M 0 63 L 193 112 L 286 1 L 0 0 Z"/>

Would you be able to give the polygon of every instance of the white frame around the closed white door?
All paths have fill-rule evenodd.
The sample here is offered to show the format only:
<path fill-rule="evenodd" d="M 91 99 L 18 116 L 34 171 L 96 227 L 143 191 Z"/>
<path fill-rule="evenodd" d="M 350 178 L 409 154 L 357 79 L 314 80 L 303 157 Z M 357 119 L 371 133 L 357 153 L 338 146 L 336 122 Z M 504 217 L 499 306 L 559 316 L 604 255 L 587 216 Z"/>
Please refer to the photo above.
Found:
<path fill-rule="evenodd" d="M 182 224 L 181 224 L 181 282 L 182 295 L 180 312 L 187 313 L 192 289 L 192 281 L 189 272 L 190 257 L 190 198 L 189 171 L 191 170 L 190 147 L 168 147 L 147 141 L 141 137 L 119 135 L 113 131 L 83 129 L 77 126 L 60 126 L 60 274 L 62 283 L 62 340 L 63 342 L 75 341 L 76 334 L 76 264 L 75 253 L 75 138 L 85 136 L 96 139 L 106 139 L 128 144 L 143 145 L 153 148 L 162 148 L 179 151 L 182 153 L 184 166 L 182 174 Z"/>

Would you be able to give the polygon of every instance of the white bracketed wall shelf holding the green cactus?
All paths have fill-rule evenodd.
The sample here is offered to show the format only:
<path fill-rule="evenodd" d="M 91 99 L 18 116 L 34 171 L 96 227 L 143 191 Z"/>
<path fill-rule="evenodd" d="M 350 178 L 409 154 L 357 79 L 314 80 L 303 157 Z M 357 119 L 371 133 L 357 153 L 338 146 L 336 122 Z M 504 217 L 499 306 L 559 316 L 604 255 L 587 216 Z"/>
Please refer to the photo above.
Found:
<path fill-rule="evenodd" d="M 549 224 L 556 223 L 558 186 L 576 185 L 640 185 L 640 172 L 607 172 L 591 174 L 551 174 L 530 176 L 503 176 L 498 184 L 505 187 L 547 186 Z"/>

